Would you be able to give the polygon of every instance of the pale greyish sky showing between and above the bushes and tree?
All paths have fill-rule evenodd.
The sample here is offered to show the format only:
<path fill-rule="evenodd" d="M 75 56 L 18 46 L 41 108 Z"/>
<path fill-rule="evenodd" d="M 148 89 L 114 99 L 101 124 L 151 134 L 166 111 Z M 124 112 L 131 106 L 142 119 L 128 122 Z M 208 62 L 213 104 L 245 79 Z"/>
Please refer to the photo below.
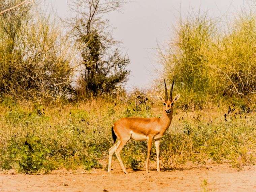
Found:
<path fill-rule="evenodd" d="M 67 0 L 42 1 L 44 5 L 53 7 L 61 18 L 69 15 Z M 180 16 L 199 8 L 216 17 L 223 14 L 232 16 L 244 3 L 245 0 L 131 0 L 123 6 L 122 13 L 107 15 L 115 27 L 114 38 L 122 41 L 121 49 L 127 52 L 131 61 L 126 89 L 150 88 L 152 80 L 159 76 L 155 69 L 161 70 L 162 65 L 155 49 L 158 43 L 168 43 Z"/>

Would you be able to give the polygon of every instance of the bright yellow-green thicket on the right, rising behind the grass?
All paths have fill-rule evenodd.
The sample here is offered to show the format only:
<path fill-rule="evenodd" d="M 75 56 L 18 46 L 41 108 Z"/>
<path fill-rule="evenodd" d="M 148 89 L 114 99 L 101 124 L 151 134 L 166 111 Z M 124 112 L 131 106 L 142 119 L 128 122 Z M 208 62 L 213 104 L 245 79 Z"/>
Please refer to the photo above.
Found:
<path fill-rule="evenodd" d="M 219 100 L 254 103 L 256 93 L 256 14 L 223 18 L 189 14 L 178 22 L 167 52 L 164 75 L 175 78 L 184 106 Z M 242 98 L 242 99 L 241 99 Z"/>

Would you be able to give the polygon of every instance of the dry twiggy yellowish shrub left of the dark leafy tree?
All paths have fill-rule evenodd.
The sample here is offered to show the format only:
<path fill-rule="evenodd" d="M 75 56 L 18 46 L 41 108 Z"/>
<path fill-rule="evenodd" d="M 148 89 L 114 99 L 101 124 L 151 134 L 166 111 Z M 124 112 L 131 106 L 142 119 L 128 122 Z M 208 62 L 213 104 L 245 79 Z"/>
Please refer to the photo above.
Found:
<path fill-rule="evenodd" d="M 31 8 L 0 15 L 0 94 L 56 99 L 70 90 L 70 50 L 55 18 Z"/>

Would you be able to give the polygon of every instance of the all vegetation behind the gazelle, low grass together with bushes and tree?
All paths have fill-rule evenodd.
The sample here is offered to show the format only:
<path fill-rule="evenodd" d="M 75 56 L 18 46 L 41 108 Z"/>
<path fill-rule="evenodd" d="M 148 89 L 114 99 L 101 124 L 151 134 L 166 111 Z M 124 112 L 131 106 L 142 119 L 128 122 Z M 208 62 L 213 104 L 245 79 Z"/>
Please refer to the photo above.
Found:
<path fill-rule="evenodd" d="M 0 0 L 0 12 L 21 2 Z M 162 170 L 209 160 L 237 171 L 255 164 L 256 14 L 242 12 L 224 27 L 207 14 L 181 18 L 160 51 L 161 80 L 152 90 L 127 92 L 130 61 L 114 48 L 103 17 L 123 2 L 108 3 L 73 1 L 77 15 L 62 21 L 66 34 L 34 4 L 0 14 L 0 170 L 106 169 L 116 120 L 161 115 L 162 77 L 174 78 L 173 92 L 181 94 L 161 139 Z M 146 151 L 145 141 L 129 141 L 122 159 L 142 169 Z"/>

